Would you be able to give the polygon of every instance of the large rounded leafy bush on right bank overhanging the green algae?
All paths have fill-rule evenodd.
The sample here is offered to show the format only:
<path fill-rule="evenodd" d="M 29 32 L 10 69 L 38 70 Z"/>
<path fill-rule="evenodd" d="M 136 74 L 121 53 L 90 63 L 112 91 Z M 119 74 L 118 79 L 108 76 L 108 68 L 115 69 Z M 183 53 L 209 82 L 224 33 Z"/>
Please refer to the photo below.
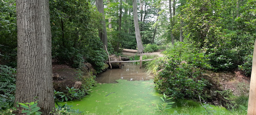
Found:
<path fill-rule="evenodd" d="M 204 89 L 205 80 L 200 79 L 202 71 L 193 64 L 182 63 L 180 58 L 169 55 L 157 61 L 159 74 L 154 78 L 156 89 L 176 98 L 197 98 Z"/>

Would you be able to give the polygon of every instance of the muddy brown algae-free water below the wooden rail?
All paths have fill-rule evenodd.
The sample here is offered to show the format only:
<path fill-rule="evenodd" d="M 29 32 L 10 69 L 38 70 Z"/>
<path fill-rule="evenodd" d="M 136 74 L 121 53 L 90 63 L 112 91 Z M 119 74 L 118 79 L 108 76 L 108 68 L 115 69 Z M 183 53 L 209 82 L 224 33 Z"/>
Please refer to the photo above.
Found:
<path fill-rule="evenodd" d="M 139 65 L 133 63 L 124 63 L 121 69 L 109 69 L 99 74 L 96 78 L 98 83 L 117 83 L 115 80 L 150 80 L 154 78 L 151 74 L 147 74 L 145 69 L 139 69 Z"/>

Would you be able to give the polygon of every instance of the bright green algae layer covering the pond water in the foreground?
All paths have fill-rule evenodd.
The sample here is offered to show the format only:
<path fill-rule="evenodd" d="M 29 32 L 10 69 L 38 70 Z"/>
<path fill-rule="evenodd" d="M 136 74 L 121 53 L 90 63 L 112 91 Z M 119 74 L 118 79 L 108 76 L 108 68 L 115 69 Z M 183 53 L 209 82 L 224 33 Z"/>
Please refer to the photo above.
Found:
<path fill-rule="evenodd" d="M 126 64 L 127 65 L 127 64 Z M 129 70 L 134 70 L 137 68 L 129 65 Z M 128 66 L 127 66 L 128 67 Z M 133 67 L 133 69 L 131 68 Z M 120 72 L 124 70 L 124 72 Z M 115 71 L 115 70 L 113 70 Z M 150 78 L 151 76 L 145 76 L 145 70 L 141 71 L 144 73 L 133 72 L 132 75 L 127 76 L 129 73 L 127 69 L 119 69 L 119 73 L 122 76 L 118 76 L 115 73 L 111 74 L 115 77 L 115 83 L 98 83 L 97 87 L 94 87 L 91 95 L 87 97 L 76 100 L 65 102 L 68 105 L 72 105 L 74 109 L 79 109 L 85 114 L 96 114 L 96 115 L 158 115 L 161 114 L 156 108 L 156 104 L 162 102 L 156 90 L 154 89 L 153 80 L 142 80 L 141 78 Z M 108 70 L 109 72 L 109 70 Z M 136 74 L 137 73 L 137 74 Z M 104 74 L 104 73 L 103 73 Z M 103 76 L 106 77 L 109 75 Z M 126 78 L 122 80 L 122 78 Z M 132 78 L 132 80 L 131 80 Z M 140 80 L 134 80 L 134 78 L 139 78 Z M 111 81 L 110 78 L 105 78 Z M 207 106 L 210 108 L 210 112 L 226 114 L 228 111 L 225 108 Z M 218 112 L 216 112 L 218 111 Z M 173 104 L 173 108 L 169 109 L 169 114 L 178 113 L 189 113 L 190 115 L 203 115 L 209 113 L 206 111 L 198 102 L 191 100 L 180 100 Z M 218 115 L 218 114 L 216 114 Z"/>

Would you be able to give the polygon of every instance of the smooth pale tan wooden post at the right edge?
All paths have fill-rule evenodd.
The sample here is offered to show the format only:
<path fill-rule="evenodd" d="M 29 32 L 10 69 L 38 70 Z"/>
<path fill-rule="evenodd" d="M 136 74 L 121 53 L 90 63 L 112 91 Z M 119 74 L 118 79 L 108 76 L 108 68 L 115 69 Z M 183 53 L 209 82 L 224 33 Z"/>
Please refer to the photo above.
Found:
<path fill-rule="evenodd" d="M 250 90 L 247 115 L 256 115 L 256 41 L 252 56 L 252 74 L 250 76 Z"/>

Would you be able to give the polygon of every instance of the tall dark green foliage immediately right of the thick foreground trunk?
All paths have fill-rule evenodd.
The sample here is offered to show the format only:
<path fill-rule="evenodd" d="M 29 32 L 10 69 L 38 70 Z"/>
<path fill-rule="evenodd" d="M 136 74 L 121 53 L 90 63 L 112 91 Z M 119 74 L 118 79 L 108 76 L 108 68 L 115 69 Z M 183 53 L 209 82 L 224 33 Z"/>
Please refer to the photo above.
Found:
<path fill-rule="evenodd" d="M 101 72 L 107 55 L 97 33 L 101 17 L 91 7 L 86 1 L 50 0 L 52 56 L 76 68 L 87 61 Z"/>

